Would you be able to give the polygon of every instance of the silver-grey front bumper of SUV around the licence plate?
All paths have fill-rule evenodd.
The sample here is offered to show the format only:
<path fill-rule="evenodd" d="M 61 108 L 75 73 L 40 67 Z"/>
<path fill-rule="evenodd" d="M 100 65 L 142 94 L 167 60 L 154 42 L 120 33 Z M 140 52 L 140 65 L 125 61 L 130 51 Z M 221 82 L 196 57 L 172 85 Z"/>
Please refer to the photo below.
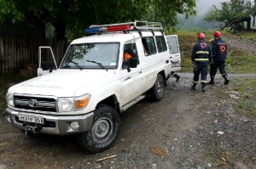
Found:
<path fill-rule="evenodd" d="M 26 130 L 23 121 L 19 121 L 18 114 L 22 113 L 23 115 L 33 115 L 44 117 L 44 125 L 35 124 L 31 122 L 27 122 L 28 127 L 38 126 L 38 132 L 46 133 L 46 134 L 54 134 L 54 135 L 67 135 L 72 133 L 86 132 L 90 130 L 93 121 L 93 112 L 90 112 L 86 115 L 43 115 L 43 114 L 32 114 L 22 111 L 11 110 L 7 108 L 5 110 L 7 113 L 8 121 L 17 128 L 21 130 Z M 73 130 L 70 127 L 71 122 L 78 121 L 79 128 Z"/>

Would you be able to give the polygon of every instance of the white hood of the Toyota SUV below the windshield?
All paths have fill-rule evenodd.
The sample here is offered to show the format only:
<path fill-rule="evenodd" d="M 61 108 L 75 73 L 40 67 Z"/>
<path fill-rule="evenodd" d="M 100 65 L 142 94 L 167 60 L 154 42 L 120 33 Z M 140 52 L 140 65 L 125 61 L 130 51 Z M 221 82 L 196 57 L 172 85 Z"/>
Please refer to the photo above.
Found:
<path fill-rule="evenodd" d="M 80 87 L 108 78 L 110 74 L 113 74 L 111 70 L 57 70 L 16 84 L 9 88 L 9 93 L 72 97 Z M 94 89 L 91 86 L 90 91 Z"/>

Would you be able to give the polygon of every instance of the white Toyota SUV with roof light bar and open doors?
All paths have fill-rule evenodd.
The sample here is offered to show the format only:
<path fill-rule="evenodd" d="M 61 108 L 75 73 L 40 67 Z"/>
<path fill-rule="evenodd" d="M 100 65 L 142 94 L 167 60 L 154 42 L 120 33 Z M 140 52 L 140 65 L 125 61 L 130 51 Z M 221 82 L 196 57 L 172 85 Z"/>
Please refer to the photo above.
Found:
<path fill-rule="evenodd" d="M 38 77 L 9 88 L 6 112 L 28 135 L 76 133 L 84 149 L 97 153 L 118 137 L 121 112 L 148 93 L 155 101 L 163 98 L 171 70 L 180 70 L 180 54 L 177 36 L 164 36 L 158 22 L 84 31 L 93 35 L 71 42 L 55 70 L 41 62 L 42 48 L 49 47 L 39 48 Z M 170 54 L 170 46 L 176 52 Z"/>

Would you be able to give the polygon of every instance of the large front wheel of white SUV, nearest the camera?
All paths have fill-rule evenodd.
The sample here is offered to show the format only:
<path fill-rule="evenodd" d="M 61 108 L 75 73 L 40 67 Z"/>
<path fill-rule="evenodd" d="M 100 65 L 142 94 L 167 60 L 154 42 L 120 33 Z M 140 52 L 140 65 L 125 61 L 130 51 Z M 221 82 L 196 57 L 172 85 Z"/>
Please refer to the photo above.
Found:
<path fill-rule="evenodd" d="M 109 149 L 119 135 L 120 123 L 116 110 L 108 105 L 99 106 L 90 131 L 79 135 L 79 143 L 90 153 Z"/>

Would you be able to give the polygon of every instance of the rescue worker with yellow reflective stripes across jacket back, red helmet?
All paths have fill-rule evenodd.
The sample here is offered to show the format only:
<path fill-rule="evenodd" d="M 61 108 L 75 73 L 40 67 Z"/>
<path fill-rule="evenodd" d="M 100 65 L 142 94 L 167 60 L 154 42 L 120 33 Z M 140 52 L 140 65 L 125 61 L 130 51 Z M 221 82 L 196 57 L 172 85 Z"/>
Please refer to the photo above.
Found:
<path fill-rule="evenodd" d="M 194 45 L 191 60 L 194 64 L 194 82 L 191 89 L 195 89 L 201 74 L 201 91 L 205 92 L 207 84 L 207 69 L 209 62 L 212 62 L 212 48 L 205 42 L 205 34 L 199 33 L 198 43 Z"/>

